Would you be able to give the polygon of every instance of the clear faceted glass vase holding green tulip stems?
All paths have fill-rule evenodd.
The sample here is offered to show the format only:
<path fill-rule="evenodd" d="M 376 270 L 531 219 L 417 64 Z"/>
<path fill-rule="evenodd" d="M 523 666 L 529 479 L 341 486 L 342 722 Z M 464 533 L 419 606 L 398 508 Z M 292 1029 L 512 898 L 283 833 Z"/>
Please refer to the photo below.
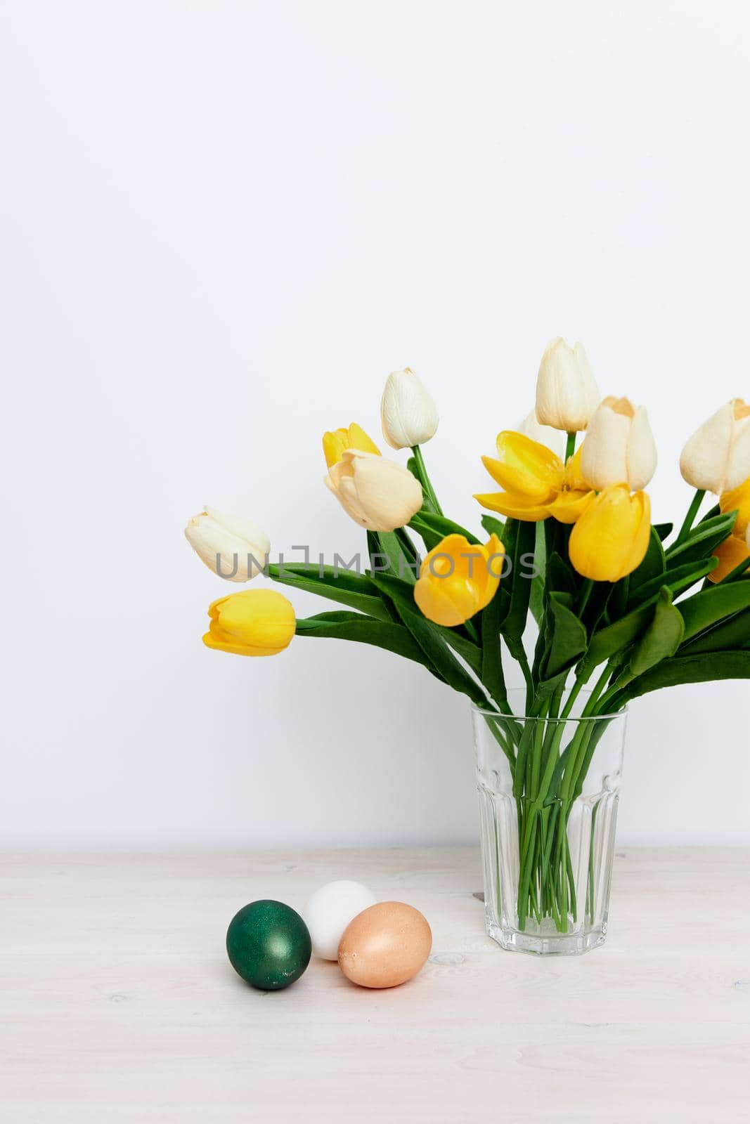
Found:
<path fill-rule="evenodd" d="M 576 954 L 603 944 L 625 711 L 526 716 L 472 707 L 487 932 L 504 949 Z"/>

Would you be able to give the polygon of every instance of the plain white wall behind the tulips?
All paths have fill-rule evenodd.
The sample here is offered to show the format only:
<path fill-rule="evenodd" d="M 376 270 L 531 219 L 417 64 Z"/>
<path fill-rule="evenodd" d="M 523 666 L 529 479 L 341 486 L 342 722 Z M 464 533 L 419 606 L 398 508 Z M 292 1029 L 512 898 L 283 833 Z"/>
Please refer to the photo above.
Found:
<path fill-rule="evenodd" d="M 684 438 L 749 395 L 743 2 L 0 6 L 8 847 L 477 837 L 464 701 L 379 651 L 200 643 L 210 502 L 354 551 L 324 429 L 388 372 L 444 506 L 546 339 Z M 346 555 L 349 556 L 349 555 Z M 237 587 L 232 587 L 237 588 Z M 326 606 L 297 598 L 300 615 Z M 623 843 L 750 842 L 746 683 L 632 708 Z"/>

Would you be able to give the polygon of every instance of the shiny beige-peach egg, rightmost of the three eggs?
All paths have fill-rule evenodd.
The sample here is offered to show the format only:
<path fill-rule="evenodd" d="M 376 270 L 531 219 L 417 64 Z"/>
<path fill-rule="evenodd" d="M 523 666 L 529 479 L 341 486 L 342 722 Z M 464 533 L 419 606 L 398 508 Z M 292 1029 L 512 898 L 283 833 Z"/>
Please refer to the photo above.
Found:
<path fill-rule="evenodd" d="M 432 931 L 414 906 L 379 901 L 358 914 L 338 944 L 338 964 L 361 987 L 396 987 L 419 971 L 432 949 Z"/>

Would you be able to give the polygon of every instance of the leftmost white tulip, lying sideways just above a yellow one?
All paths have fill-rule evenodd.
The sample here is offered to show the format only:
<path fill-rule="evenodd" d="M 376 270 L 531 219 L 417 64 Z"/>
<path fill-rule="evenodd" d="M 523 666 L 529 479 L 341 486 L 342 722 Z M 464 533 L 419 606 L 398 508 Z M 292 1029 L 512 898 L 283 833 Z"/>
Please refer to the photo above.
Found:
<path fill-rule="evenodd" d="M 256 524 L 213 507 L 193 515 L 184 536 L 208 569 L 227 581 L 250 581 L 271 550 L 269 536 Z"/>

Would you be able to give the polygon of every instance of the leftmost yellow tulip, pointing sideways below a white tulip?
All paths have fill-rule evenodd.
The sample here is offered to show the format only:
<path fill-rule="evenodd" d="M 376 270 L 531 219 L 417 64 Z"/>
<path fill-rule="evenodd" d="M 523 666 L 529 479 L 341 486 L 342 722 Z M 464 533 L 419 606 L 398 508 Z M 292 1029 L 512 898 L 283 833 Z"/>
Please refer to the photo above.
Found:
<path fill-rule="evenodd" d="M 204 644 L 235 655 L 277 655 L 291 643 L 296 619 L 291 602 L 275 589 L 245 589 L 220 597 Z"/>

